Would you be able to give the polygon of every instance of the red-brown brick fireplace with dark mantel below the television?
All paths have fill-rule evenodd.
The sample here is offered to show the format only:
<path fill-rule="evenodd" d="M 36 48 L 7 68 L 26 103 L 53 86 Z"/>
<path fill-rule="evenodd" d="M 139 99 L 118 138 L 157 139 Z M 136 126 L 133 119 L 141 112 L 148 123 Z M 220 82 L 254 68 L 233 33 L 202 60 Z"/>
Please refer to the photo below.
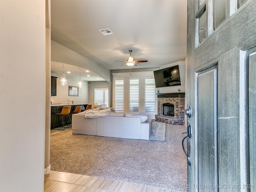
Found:
<path fill-rule="evenodd" d="M 175 125 L 185 124 L 185 93 L 157 94 L 157 103 L 156 121 Z"/>

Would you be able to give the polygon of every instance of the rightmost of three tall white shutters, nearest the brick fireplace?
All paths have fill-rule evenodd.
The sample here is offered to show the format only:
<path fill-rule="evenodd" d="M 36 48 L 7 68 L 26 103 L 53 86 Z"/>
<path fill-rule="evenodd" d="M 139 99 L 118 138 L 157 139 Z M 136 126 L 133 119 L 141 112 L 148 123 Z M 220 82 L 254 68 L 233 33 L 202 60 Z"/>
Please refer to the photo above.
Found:
<path fill-rule="evenodd" d="M 145 112 L 155 112 L 155 80 L 145 80 Z"/>

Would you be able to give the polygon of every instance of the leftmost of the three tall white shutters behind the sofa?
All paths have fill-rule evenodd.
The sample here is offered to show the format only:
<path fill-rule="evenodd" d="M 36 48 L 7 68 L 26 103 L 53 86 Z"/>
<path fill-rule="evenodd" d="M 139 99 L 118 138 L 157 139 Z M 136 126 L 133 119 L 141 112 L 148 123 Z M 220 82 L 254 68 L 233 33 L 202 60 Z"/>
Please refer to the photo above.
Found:
<path fill-rule="evenodd" d="M 124 111 L 124 80 L 115 80 L 115 110 Z"/>

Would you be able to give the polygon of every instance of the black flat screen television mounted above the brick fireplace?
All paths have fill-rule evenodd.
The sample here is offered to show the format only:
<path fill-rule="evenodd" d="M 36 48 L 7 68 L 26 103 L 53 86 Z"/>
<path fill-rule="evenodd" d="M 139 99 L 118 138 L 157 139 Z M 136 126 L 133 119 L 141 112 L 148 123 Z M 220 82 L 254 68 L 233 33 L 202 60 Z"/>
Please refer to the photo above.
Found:
<path fill-rule="evenodd" d="M 178 65 L 154 71 L 154 78 L 156 88 L 181 85 Z"/>

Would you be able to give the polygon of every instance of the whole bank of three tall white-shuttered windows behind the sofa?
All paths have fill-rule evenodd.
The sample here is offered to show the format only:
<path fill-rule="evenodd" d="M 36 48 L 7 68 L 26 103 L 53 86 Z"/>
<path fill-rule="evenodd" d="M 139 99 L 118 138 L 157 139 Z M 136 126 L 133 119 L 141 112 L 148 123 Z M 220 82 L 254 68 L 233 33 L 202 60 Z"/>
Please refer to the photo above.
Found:
<path fill-rule="evenodd" d="M 117 112 L 156 112 L 154 73 L 113 73 L 113 106 Z"/>

